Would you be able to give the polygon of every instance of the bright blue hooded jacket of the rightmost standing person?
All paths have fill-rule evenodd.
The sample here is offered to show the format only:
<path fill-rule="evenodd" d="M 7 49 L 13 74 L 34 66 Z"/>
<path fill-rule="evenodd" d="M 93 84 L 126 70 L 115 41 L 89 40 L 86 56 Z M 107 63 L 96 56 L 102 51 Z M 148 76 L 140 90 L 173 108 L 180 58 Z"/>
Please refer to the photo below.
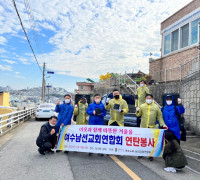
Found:
<path fill-rule="evenodd" d="M 163 108 L 163 119 L 167 127 L 169 128 L 169 131 L 173 132 L 173 134 L 178 138 L 181 139 L 181 134 L 180 134 L 180 127 L 179 127 L 179 120 L 177 117 L 178 114 L 183 114 L 185 112 L 185 108 L 183 105 L 175 106 L 174 104 L 174 97 L 172 97 L 172 104 L 169 106 L 166 103 L 166 98 L 165 98 L 165 107 Z M 167 96 L 168 97 L 168 96 Z M 176 108 L 176 110 L 175 110 Z"/>

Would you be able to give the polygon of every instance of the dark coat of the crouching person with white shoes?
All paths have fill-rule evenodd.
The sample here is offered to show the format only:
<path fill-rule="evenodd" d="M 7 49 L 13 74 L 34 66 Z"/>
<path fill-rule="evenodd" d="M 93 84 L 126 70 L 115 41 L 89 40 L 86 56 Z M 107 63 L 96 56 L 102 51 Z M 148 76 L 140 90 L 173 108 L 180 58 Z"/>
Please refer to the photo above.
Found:
<path fill-rule="evenodd" d="M 163 153 L 163 158 L 165 160 L 165 166 L 166 167 L 175 167 L 175 168 L 180 168 L 180 167 L 185 167 L 187 165 L 187 160 L 185 158 L 185 155 L 178 144 L 176 140 L 172 140 L 176 152 L 172 152 L 170 146 L 171 142 L 167 142 L 165 145 L 164 153 Z"/>

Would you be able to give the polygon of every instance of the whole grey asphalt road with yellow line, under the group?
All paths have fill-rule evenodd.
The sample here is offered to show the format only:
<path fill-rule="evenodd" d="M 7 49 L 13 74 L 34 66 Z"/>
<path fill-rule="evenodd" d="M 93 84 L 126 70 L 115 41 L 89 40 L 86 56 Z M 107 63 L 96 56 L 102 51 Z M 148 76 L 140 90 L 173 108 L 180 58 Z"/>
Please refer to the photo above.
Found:
<path fill-rule="evenodd" d="M 197 180 L 200 179 L 199 139 L 183 144 L 188 167 L 178 173 L 163 170 L 162 158 L 99 156 L 63 152 L 41 156 L 35 140 L 44 121 L 30 121 L 0 137 L 0 180 Z"/>

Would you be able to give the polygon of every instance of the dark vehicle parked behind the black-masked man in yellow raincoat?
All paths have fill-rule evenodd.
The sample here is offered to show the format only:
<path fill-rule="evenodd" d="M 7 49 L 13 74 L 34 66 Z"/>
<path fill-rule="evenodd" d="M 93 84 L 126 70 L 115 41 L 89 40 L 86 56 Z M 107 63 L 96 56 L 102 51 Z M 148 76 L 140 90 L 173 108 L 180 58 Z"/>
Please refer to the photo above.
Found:
<path fill-rule="evenodd" d="M 133 95 L 121 94 L 122 98 L 127 102 L 129 107 L 128 114 L 124 115 L 124 126 L 137 127 L 137 117 L 135 114 L 135 99 Z M 113 99 L 113 93 L 106 94 L 102 97 L 102 103 L 106 105 L 107 98 Z M 107 115 L 104 117 L 104 124 L 107 125 L 110 120 L 110 111 L 107 111 Z"/>

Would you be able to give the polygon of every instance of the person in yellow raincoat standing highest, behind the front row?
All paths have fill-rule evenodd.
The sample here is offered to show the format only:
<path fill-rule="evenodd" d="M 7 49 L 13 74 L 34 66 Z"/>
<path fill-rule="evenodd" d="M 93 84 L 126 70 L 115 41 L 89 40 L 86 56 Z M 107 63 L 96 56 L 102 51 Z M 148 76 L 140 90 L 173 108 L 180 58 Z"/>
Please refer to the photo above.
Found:
<path fill-rule="evenodd" d="M 145 82 L 143 80 L 140 81 L 140 87 L 137 88 L 136 91 L 136 101 L 135 101 L 135 107 L 140 107 L 140 105 L 144 104 L 146 95 L 149 94 L 149 89 L 146 86 Z M 141 123 L 141 117 L 137 117 L 137 127 L 140 127 Z"/>

